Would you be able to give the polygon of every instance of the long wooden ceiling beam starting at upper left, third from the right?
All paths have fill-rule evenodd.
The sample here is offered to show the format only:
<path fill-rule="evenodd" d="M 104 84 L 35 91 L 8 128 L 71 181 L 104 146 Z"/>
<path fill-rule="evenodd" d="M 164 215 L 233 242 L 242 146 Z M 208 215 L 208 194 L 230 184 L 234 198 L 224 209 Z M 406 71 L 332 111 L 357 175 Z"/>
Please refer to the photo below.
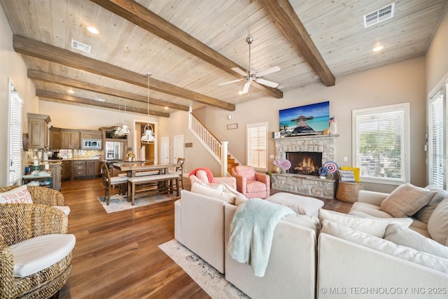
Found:
<path fill-rule="evenodd" d="M 40 41 L 36 41 L 34 39 L 28 39 L 25 36 L 15 34 L 13 36 L 13 47 L 15 52 L 23 55 L 29 55 L 42 60 L 64 64 L 68 67 L 82 69 L 83 71 L 89 71 L 93 74 L 113 78 L 144 88 L 148 87 L 148 77 L 144 74 L 134 73 L 133 71 L 122 69 L 99 60 L 94 60 L 90 57 L 85 57 L 69 50 L 50 46 L 47 43 L 41 43 Z M 215 106 L 228 111 L 235 111 L 234 104 L 230 104 L 207 95 L 201 95 L 198 92 L 180 88 L 179 86 L 159 81 L 155 78 L 151 78 L 150 88 L 168 95 L 189 99 L 193 102 Z"/>

